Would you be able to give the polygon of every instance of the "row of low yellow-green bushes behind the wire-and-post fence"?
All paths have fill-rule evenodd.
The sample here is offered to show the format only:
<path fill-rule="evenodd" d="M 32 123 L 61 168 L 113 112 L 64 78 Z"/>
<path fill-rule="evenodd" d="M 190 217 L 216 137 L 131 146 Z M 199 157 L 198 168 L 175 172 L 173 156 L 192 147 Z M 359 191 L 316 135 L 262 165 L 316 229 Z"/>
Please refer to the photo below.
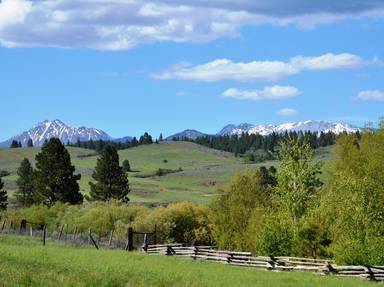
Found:
<path fill-rule="evenodd" d="M 160 242 L 211 243 L 207 207 L 193 203 L 175 203 L 167 207 L 149 208 L 126 205 L 115 201 L 93 202 L 84 205 L 56 203 L 52 207 L 33 205 L 8 211 L 8 222 L 19 224 L 22 219 L 46 225 L 58 230 L 65 225 L 73 231 L 92 231 L 99 236 L 108 236 L 114 230 L 115 238 L 126 238 L 128 227 L 136 231 L 152 232 L 155 225 Z"/>

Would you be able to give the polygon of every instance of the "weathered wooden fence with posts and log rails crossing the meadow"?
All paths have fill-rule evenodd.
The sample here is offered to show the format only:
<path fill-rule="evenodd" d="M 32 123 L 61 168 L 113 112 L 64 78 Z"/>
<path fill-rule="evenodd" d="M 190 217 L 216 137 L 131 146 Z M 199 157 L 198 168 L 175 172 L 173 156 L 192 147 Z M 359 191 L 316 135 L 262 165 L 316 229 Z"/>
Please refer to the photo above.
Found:
<path fill-rule="evenodd" d="M 106 237 L 92 233 L 78 231 L 77 227 L 68 233 L 68 228 L 60 226 L 58 230 L 48 231 L 45 226 L 33 229 L 27 228 L 25 222 L 18 228 L 13 222 L 5 228 L 5 221 L 0 225 L 0 234 L 13 234 L 20 236 L 39 237 L 45 245 L 46 238 L 62 241 L 74 245 L 94 245 L 95 248 L 142 250 L 147 254 L 162 254 L 167 256 L 184 256 L 193 260 L 207 260 L 222 264 L 241 267 L 261 268 L 271 271 L 307 271 L 319 275 L 332 275 L 340 277 L 358 277 L 370 281 L 384 282 L 384 266 L 339 266 L 331 260 L 311 259 L 287 256 L 253 256 L 251 252 L 237 252 L 218 250 L 214 246 L 185 246 L 181 243 L 156 244 L 156 227 L 153 233 L 135 232 L 132 228 L 127 230 L 126 240 L 114 238 L 114 231 Z M 141 236 L 143 241 L 134 242 L 134 235 Z M 153 235 L 149 244 L 148 235 Z M 137 240 L 136 240 L 137 241 Z"/>

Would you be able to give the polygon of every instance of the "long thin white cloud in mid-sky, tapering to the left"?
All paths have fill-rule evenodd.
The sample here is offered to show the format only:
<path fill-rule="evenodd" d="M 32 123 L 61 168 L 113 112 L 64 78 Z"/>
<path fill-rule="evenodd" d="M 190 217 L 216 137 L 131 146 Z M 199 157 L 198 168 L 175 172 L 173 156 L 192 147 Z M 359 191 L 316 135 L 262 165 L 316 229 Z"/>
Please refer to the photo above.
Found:
<path fill-rule="evenodd" d="M 353 54 L 324 54 L 319 57 L 297 56 L 288 62 L 252 61 L 248 63 L 218 59 L 197 66 L 175 65 L 153 75 L 160 80 L 182 79 L 205 82 L 232 80 L 238 82 L 276 81 L 305 70 L 351 69 L 368 65 Z"/>

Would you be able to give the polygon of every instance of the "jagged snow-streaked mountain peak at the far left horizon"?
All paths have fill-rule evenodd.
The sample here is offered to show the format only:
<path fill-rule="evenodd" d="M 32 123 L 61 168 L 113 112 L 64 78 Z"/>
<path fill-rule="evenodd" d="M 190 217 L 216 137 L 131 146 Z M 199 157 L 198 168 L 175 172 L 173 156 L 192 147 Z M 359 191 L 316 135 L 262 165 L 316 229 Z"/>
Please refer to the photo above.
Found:
<path fill-rule="evenodd" d="M 104 131 L 87 127 L 71 127 L 60 120 L 43 121 L 28 131 L 22 132 L 9 140 L 0 143 L 1 147 L 9 147 L 12 140 L 20 141 L 23 146 L 32 139 L 34 146 L 41 146 L 45 140 L 59 138 L 64 144 L 88 140 L 112 140 Z"/>

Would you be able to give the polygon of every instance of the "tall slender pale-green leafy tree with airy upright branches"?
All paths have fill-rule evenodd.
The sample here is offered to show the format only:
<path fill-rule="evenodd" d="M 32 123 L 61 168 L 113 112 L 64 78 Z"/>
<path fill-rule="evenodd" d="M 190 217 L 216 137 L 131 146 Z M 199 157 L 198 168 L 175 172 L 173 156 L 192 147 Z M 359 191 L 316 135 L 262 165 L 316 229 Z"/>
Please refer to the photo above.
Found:
<path fill-rule="evenodd" d="M 299 138 L 280 143 L 280 167 L 277 172 L 277 201 L 296 225 L 314 202 L 322 182 L 319 179 L 321 162 L 313 163 L 309 143 Z"/>

